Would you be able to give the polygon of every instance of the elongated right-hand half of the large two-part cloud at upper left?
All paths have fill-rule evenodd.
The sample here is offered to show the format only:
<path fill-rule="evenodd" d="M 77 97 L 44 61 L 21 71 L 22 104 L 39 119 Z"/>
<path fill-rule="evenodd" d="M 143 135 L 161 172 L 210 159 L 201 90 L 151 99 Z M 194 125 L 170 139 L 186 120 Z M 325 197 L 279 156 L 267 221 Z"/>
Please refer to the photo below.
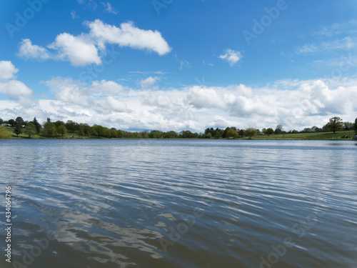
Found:
<path fill-rule="evenodd" d="M 155 51 L 159 55 L 167 54 L 171 51 L 169 44 L 161 36 L 159 31 L 143 30 L 136 28 L 132 22 L 126 22 L 116 27 L 104 24 L 103 21 L 86 21 L 91 29 L 91 36 L 98 42 L 100 47 L 104 44 L 118 44 L 119 46 L 129 46 L 133 49 L 147 49 Z"/>

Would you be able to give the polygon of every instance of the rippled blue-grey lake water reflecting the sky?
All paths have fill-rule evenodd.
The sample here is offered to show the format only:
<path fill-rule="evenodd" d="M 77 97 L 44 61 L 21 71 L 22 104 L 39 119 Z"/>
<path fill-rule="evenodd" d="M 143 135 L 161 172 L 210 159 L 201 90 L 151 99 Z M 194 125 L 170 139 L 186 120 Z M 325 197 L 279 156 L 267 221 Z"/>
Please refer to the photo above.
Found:
<path fill-rule="evenodd" d="M 0 150 L 0 267 L 357 265 L 357 142 L 23 139 Z"/>

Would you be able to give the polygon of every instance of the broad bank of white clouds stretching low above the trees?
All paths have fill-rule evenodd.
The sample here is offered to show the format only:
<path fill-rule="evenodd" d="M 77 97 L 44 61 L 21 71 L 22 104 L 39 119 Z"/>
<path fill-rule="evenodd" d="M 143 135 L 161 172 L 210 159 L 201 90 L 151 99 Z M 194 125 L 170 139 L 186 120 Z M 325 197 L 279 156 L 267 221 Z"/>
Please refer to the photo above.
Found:
<path fill-rule="evenodd" d="M 51 116 L 53 119 L 102 124 L 117 129 L 190 129 L 236 126 L 303 129 L 323 126 L 332 116 L 354 121 L 357 86 L 354 81 L 331 84 L 319 79 L 276 81 L 264 87 L 187 86 L 180 89 L 124 89 L 114 81 L 81 81 L 57 77 L 45 84 L 55 99 L 39 100 L 31 110 L 7 101 L 1 114 L 24 118 Z M 6 107 L 6 108 L 5 108 Z"/>

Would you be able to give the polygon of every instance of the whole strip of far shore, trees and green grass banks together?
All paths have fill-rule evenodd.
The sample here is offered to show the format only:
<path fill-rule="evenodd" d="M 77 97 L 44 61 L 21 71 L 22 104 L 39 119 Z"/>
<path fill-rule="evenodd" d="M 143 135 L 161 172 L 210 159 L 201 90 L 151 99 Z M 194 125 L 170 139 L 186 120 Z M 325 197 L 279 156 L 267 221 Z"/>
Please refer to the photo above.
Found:
<path fill-rule="evenodd" d="M 235 126 L 226 129 L 207 128 L 196 133 L 189 130 L 176 131 L 124 131 L 121 129 L 75 121 L 51 121 L 40 124 L 36 117 L 24 121 L 20 116 L 4 121 L 0 119 L 0 139 L 356 139 L 357 118 L 354 123 L 344 122 L 339 117 L 332 117 L 327 124 L 319 128 L 312 126 L 301 131 L 284 131 L 280 124 L 272 128 L 238 129 Z"/>

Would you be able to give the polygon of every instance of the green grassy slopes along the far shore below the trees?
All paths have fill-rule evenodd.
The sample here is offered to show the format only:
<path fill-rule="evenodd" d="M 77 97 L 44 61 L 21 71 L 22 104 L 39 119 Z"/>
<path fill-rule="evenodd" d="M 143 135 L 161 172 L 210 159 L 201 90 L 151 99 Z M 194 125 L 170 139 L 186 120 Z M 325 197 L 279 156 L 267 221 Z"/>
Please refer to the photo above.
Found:
<path fill-rule="evenodd" d="M 11 135 L 11 139 L 29 139 L 29 136 L 26 134 L 19 134 L 19 137 L 14 134 L 14 128 L 8 129 L 9 134 Z M 341 139 L 343 136 L 348 136 L 348 139 Z M 355 132 L 353 130 L 349 131 L 338 131 L 336 134 L 332 132 L 318 132 L 318 133 L 296 133 L 296 134 L 271 134 L 271 135 L 257 135 L 252 139 L 306 139 L 306 140 L 319 140 L 319 139 L 331 139 L 331 140 L 351 140 Z M 80 137 L 77 133 L 66 133 L 64 137 L 56 136 L 55 139 L 70 139 L 71 136 L 74 136 L 75 139 L 96 139 L 98 137 L 90 136 L 90 137 Z M 31 139 L 48 139 L 41 135 L 31 135 Z M 245 137 L 243 139 L 246 139 Z"/>

